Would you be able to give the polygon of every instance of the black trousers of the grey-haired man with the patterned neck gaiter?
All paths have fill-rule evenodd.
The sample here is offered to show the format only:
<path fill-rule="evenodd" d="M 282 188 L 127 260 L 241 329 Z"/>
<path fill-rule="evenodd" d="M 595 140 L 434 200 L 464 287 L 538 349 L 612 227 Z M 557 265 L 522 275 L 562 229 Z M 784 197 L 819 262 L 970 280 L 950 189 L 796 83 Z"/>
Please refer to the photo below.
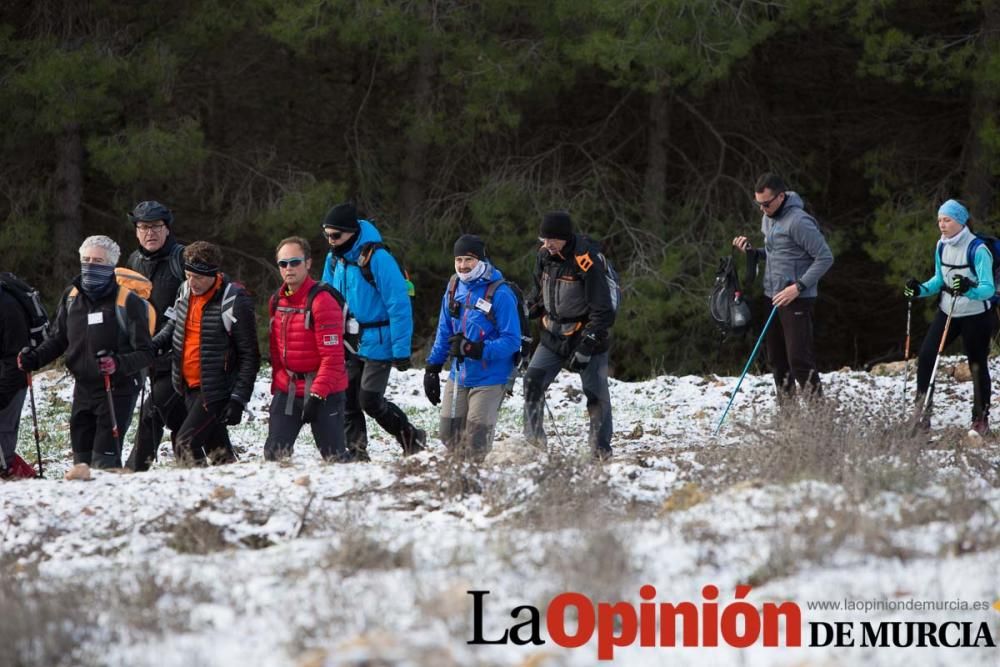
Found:
<path fill-rule="evenodd" d="M 73 408 L 69 418 L 69 438 L 73 448 L 73 463 L 86 463 L 94 468 L 121 468 L 122 448 L 130 421 L 129 411 L 139 392 L 138 376 L 118 379 L 111 392 L 115 422 L 119 433 L 114 436 L 111 407 L 103 381 L 100 384 L 77 381 L 73 387 Z"/>

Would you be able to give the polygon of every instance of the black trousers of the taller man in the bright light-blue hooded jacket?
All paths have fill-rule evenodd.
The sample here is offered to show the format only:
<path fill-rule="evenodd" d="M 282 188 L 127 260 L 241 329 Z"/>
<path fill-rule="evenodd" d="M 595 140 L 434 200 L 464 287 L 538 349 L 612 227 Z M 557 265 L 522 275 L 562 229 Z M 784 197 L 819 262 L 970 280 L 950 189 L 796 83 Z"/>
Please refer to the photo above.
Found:
<path fill-rule="evenodd" d="M 351 355 L 347 359 L 347 397 L 344 409 L 344 431 L 347 448 L 358 461 L 368 460 L 368 426 L 365 415 L 396 438 L 404 453 L 411 453 L 420 445 L 422 434 L 394 403 L 385 399 L 389 385 L 388 361 L 361 359 Z"/>

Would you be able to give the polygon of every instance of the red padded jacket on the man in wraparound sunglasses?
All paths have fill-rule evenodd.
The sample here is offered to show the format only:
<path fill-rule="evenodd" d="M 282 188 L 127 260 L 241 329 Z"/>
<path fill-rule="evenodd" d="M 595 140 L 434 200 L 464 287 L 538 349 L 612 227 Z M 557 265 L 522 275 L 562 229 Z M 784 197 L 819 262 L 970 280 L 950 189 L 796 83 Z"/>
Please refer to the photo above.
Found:
<path fill-rule="evenodd" d="M 344 367 L 344 317 L 336 299 L 319 292 L 312 305 L 312 328 L 306 329 L 306 298 L 316 281 L 307 277 L 295 294 L 284 295 L 271 303 L 271 393 L 288 391 L 289 372 L 316 373 L 310 392 L 324 398 L 347 389 Z M 277 295 L 272 296 L 272 302 Z M 295 383 L 296 396 L 302 396 L 305 383 Z"/>

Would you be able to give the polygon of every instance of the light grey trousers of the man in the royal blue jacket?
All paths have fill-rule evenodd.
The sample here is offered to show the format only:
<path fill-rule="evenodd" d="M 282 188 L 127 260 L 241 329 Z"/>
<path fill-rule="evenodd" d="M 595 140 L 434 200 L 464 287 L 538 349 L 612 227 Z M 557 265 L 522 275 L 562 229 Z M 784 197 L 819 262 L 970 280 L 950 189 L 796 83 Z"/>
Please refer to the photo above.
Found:
<path fill-rule="evenodd" d="M 484 458 L 493 447 L 493 434 L 503 402 L 504 385 L 462 387 L 452 379 L 441 395 L 441 442 L 454 453 Z"/>

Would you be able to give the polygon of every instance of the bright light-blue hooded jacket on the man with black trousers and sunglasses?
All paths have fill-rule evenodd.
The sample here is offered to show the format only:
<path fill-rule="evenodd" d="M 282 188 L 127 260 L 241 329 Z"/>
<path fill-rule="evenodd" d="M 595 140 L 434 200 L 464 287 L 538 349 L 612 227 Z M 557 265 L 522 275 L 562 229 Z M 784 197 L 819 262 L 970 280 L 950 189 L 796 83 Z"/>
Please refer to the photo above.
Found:
<path fill-rule="evenodd" d="M 366 243 L 380 243 L 382 235 L 375 225 L 359 220 L 361 229 L 351 249 L 343 257 L 333 251 L 323 263 L 323 282 L 333 285 L 347 301 L 351 316 L 361 324 L 358 356 L 373 361 L 410 358 L 413 337 L 413 307 L 407 292 L 406 278 L 389 251 L 376 250 L 371 257 L 373 287 L 361 273 L 358 258 Z M 384 322 L 378 326 L 368 326 Z"/>

